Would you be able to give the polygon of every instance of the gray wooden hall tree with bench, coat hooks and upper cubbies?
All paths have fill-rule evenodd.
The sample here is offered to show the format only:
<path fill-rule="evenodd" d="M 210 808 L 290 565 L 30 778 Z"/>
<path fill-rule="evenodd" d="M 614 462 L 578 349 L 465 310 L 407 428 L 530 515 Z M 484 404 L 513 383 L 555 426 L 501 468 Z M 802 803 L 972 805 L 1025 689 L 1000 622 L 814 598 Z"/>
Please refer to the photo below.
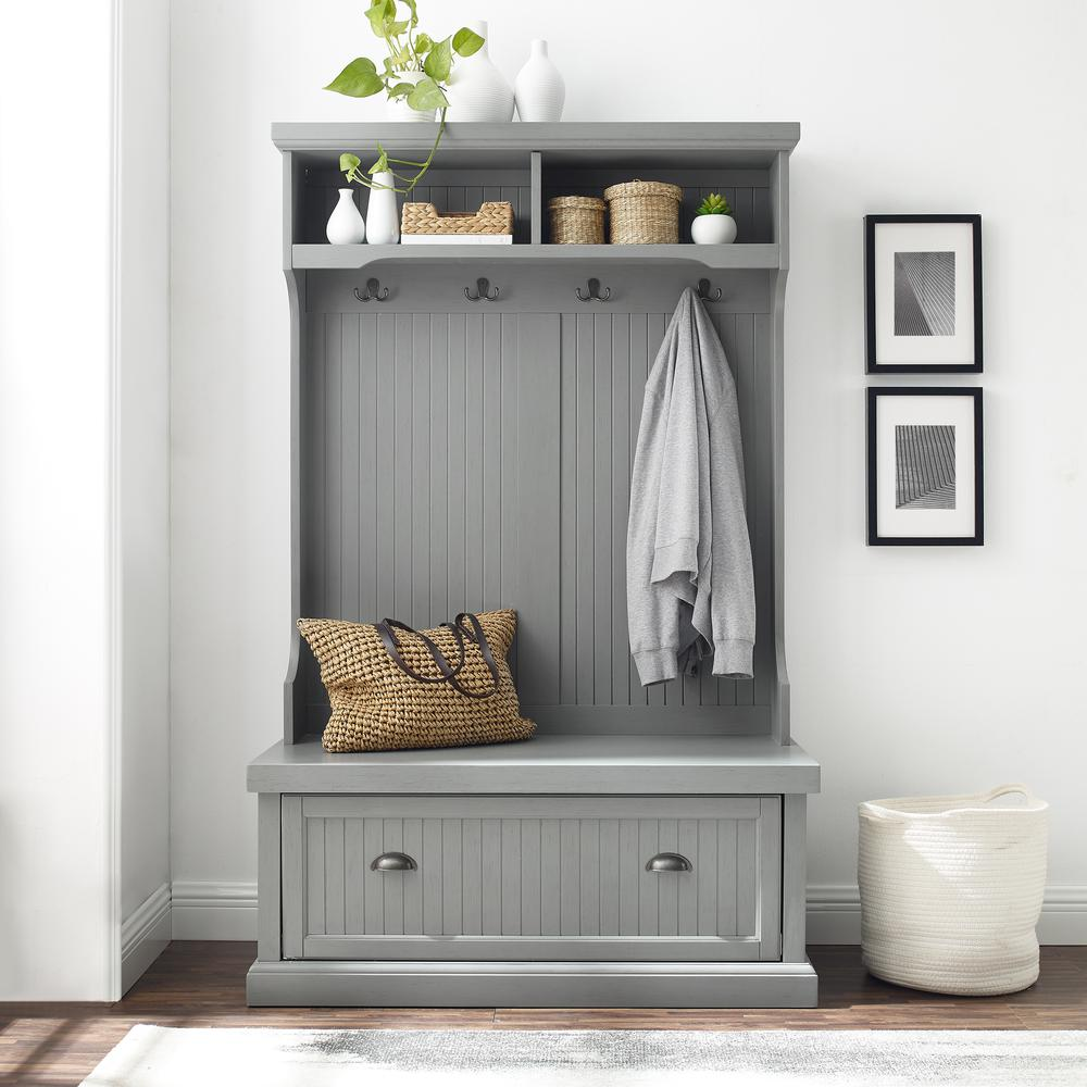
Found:
<path fill-rule="evenodd" d="M 790 736 L 784 651 L 798 138 L 794 124 L 453 124 L 415 199 L 445 211 L 510 200 L 513 245 L 328 246 L 340 152 L 368 162 L 380 140 L 422 158 L 434 129 L 273 126 L 293 613 L 427 627 L 516 608 L 511 665 L 539 735 L 328 754 L 327 700 L 296 634 L 283 741 L 248 771 L 250 1003 L 815 1003 L 804 833 L 820 767 Z M 684 239 L 698 201 L 724 190 L 737 242 L 549 242 L 551 196 L 635 177 L 684 187 Z M 484 277 L 490 293 L 476 298 Z M 607 301 L 579 299 L 589 277 Z M 741 404 L 755 674 L 647 690 L 626 641 L 630 463 L 648 368 L 679 292 L 701 278 Z"/>

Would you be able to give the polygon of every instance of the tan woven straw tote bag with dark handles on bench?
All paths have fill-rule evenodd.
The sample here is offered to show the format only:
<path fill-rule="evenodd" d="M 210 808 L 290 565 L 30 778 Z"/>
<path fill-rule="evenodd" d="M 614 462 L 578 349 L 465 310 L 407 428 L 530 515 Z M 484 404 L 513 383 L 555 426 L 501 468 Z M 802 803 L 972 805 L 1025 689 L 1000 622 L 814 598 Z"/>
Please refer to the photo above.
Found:
<path fill-rule="evenodd" d="M 326 751 L 500 744 L 536 730 L 521 716 L 505 660 L 515 611 L 464 613 L 433 630 L 329 619 L 301 619 L 298 628 L 332 705 Z"/>

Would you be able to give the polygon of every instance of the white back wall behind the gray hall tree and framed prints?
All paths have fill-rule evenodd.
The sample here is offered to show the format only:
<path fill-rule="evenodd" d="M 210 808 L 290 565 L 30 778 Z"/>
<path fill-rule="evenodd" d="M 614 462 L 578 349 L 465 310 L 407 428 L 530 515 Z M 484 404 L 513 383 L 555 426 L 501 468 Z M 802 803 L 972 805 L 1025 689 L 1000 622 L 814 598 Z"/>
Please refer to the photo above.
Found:
<path fill-rule="evenodd" d="M 1087 939 L 1084 7 L 422 7 L 441 33 L 489 17 L 510 77 L 529 38 L 549 38 L 567 120 L 801 122 L 788 655 L 795 733 L 824 764 L 813 897 L 852 909 L 860 799 L 1022 778 L 1053 804 L 1051 899 Z M 268 124 L 379 118 L 377 102 L 320 90 L 372 42 L 348 0 L 174 5 L 172 836 L 187 935 L 210 933 L 196 903 L 237 923 L 212 907 L 254 878 L 245 764 L 280 728 L 287 304 Z M 983 549 L 864 546 L 861 217 L 895 211 L 984 217 Z"/>

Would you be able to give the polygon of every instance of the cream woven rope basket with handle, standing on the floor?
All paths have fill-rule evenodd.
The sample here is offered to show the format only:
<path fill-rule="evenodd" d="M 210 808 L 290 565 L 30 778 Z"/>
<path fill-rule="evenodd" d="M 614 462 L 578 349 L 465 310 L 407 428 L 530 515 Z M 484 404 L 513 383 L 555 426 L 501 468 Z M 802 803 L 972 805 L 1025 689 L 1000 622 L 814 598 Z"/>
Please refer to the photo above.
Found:
<path fill-rule="evenodd" d="M 1009 794 L 1024 802 L 992 804 Z M 1048 813 L 1022 785 L 862 803 L 864 965 L 930 992 L 989 996 L 1033 985 Z"/>

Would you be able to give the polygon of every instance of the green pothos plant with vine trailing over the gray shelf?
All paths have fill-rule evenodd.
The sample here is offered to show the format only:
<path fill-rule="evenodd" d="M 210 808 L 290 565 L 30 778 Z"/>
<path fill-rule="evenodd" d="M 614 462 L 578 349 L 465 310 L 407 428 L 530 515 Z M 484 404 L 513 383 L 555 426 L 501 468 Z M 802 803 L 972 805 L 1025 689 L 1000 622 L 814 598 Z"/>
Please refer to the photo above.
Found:
<path fill-rule="evenodd" d="M 400 4 L 407 9 L 400 11 Z M 393 189 L 411 192 L 423 175 L 430 168 L 434 155 L 446 129 L 446 97 L 449 73 L 453 67 L 453 57 L 471 57 L 483 46 L 483 37 L 462 26 L 455 34 L 436 41 L 430 35 L 418 29 L 416 0 L 373 0 L 366 10 L 366 18 L 375 36 L 385 42 L 388 55 L 382 60 L 382 67 L 368 57 L 357 57 L 327 87 L 337 95 L 349 98 L 371 98 L 383 90 L 390 101 L 403 99 L 413 110 L 430 112 L 440 110 L 438 132 L 434 137 L 430 153 L 422 162 L 412 159 L 393 159 L 377 145 L 377 161 L 363 171 L 362 160 L 357 154 L 345 152 L 340 155 L 340 170 L 348 182 L 365 185 L 372 189 Z M 401 17 L 401 15 L 405 17 Z M 396 167 L 415 171 L 400 173 Z M 374 180 L 375 174 L 389 173 L 392 185 Z"/>

